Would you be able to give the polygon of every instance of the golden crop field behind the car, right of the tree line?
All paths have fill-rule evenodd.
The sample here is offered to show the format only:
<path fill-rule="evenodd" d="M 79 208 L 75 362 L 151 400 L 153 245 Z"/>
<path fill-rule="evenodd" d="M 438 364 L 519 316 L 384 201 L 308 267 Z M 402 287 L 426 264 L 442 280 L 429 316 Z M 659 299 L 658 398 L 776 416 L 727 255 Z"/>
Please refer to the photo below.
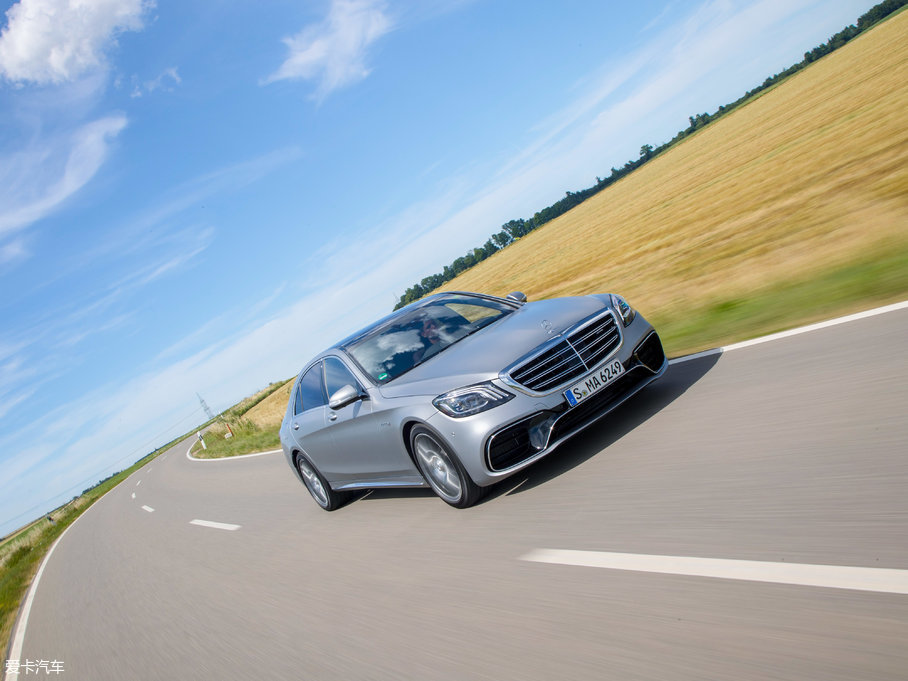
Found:
<path fill-rule="evenodd" d="M 443 288 L 613 291 L 671 321 L 894 253 L 908 254 L 908 12 Z"/>

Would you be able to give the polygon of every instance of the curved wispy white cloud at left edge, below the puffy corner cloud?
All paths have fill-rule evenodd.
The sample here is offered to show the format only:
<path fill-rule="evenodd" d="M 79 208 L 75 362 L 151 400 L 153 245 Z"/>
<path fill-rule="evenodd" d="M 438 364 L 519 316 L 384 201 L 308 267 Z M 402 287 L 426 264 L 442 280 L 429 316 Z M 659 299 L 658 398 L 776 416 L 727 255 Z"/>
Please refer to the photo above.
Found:
<path fill-rule="evenodd" d="M 111 138 L 125 127 L 125 116 L 108 116 L 83 125 L 65 142 L 0 157 L 0 184 L 5 187 L 0 237 L 40 220 L 85 186 L 107 158 Z"/>

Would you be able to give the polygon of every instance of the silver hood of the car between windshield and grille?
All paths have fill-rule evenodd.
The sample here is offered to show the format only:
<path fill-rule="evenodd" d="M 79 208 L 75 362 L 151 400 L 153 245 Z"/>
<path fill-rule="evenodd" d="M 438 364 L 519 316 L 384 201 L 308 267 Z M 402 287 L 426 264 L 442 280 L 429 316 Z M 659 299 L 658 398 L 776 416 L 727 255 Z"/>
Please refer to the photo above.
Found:
<path fill-rule="evenodd" d="M 435 396 L 497 378 L 508 365 L 605 307 L 605 301 L 594 296 L 526 303 L 381 386 L 381 393 L 385 397 Z"/>

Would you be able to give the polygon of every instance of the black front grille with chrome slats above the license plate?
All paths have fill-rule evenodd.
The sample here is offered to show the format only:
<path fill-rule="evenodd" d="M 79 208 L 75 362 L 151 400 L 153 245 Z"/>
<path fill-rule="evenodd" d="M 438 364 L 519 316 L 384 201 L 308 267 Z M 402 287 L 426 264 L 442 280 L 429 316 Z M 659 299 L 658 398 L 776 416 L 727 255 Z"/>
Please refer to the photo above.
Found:
<path fill-rule="evenodd" d="M 621 332 L 615 317 L 606 312 L 511 367 L 507 373 L 514 383 L 527 390 L 546 392 L 580 378 L 620 344 Z"/>

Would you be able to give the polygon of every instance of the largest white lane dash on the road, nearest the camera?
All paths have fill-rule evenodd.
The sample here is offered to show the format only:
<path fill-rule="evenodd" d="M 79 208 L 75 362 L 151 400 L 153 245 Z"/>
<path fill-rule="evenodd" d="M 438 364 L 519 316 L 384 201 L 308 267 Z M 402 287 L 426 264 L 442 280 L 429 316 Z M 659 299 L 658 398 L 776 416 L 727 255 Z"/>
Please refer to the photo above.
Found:
<path fill-rule="evenodd" d="M 521 560 L 582 567 L 659 572 L 670 575 L 740 579 L 751 582 L 820 586 L 882 593 L 908 594 L 908 570 L 850 567 L 845 565 L 804 565 L 755 560 L 653 556 L 602 551 L 534 549 Z"/>

